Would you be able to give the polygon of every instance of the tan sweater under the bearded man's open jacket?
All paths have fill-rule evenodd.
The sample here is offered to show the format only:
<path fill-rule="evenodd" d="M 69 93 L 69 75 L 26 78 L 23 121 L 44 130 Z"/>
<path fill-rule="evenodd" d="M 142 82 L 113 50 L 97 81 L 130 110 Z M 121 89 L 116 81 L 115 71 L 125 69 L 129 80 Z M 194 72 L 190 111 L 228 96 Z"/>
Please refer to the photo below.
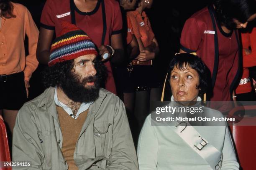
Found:
<path fill-rule="evenodd" d="M 77 165 L 74 162 L 74 150 L 82 126 L 87 117 L 88 109 L 82 112 L 77 117 L 77 119 L 74 119 L 69 114 L 67 114 L 67 112 L 62 107 L 56 105 L 56 108 L 59 116 L 61 132 L 63 135 L 63 143 L 61 148 L 63 157 L 69 165 L 68 170 L 78 170 Z"/>

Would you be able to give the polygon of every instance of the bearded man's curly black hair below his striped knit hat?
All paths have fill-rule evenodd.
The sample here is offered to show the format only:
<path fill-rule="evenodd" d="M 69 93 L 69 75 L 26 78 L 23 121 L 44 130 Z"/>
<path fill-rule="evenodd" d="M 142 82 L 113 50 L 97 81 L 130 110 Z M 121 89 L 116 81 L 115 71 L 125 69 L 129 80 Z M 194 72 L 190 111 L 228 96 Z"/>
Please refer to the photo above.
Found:
<path fill-rule="evenodd" d="M 106 67 L 99 60 L 95 61 L 95 70 L 97 71 L 96 76 L 101 80 L 101 87 L 105 84 L 105 79 L 107 77 Z M 67 60 L 64 62 L 58 62 L 51 67 L 46 67 L 42 72 L 42 79 L 44 86 L 55 87 L 63 84 L 67 80 L 67 75 L 72 72 L 74 68 L 74 59 Z"/>

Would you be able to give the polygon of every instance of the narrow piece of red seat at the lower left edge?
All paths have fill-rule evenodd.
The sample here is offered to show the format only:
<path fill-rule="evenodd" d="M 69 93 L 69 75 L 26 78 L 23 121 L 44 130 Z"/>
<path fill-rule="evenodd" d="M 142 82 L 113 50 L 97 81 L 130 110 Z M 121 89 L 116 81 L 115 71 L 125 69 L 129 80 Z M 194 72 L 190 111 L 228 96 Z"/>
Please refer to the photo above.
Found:
<path fill-rule="evenodd" d="M 7 140 L 6 128 L 3 120 L 0 119 L 0 161 L 10 161 L 10 151 Z M 0 170 L 11 170 L 11 168 L 1 168 Z"/>

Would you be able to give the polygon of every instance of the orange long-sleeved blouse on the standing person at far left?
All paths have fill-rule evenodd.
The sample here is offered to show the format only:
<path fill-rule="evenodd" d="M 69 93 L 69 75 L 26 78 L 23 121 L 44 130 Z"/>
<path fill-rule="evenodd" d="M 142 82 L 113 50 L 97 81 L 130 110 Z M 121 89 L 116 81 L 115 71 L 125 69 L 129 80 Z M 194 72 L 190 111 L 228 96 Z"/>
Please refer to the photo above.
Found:
<path fill-rule="evenodd" d="M 28 9 L 11 3 L 16 18 L 2 18 L 0 26 L 0 75 L 24 71 L 25 80 L 29 81 L 38 66 L 36 46 L 39 31 Z M 28 56 L 25 55 L 25 35 L 28 36 Z"/>

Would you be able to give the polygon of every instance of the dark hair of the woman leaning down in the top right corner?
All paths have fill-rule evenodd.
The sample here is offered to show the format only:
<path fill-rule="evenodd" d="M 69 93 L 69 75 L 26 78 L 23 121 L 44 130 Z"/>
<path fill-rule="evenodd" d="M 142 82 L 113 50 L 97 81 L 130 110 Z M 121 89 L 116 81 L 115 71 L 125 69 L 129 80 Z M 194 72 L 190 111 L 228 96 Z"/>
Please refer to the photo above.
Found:
<path fill-rule="evenodd" d="M 213 5 L 218 22 L 229 30 L 236 28 L 233 19 L 246 23 L 256 13 L 255 0 L 214 0 Z"/>

